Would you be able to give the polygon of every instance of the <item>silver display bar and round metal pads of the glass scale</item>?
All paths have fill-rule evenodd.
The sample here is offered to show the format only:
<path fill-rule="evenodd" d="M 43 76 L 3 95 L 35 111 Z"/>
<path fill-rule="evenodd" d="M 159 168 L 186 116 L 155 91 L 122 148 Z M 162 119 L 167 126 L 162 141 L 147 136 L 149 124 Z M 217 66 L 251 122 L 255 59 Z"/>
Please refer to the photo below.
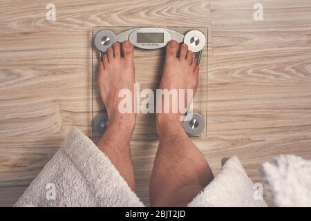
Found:
<path fill-rule="evenodd" d="M 101 30 L 94 37 L 94 45 L 100 51 L 100 57 L 102 57 L 102 53 L 111 48 L 115 42 L 122 43 L 126 40 L 131 41 L 133 46 L 137 48 L 147 50 L 163 48 L 171 40 L 187 44 L 189 50 L 197 52 L 198 65 L 200 64 L 202 50 L 206 44 L 205 35 L 198 30 L 191 30 L 184 35 L 167 28 L 132 28 L 117 35 L 111 30 Z M 189 135 L 198 135 L 205 128 L 204 117 L 198 113 L 191 113 L 191 119 L 189 119 L 189 116 L 185 117 L 187 120 L 183 122 L 185 131 Z M 101 134 L 104 133 L 107 122 L 106 113 L 99 113 L 93 120 L 95 131 Z"/>

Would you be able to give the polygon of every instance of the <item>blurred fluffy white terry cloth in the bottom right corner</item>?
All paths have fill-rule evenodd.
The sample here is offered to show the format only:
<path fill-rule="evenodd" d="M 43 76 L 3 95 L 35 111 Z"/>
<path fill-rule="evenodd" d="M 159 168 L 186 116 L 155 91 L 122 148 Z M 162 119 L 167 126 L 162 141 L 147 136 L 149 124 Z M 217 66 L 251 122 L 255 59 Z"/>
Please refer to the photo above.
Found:
<path fill-rule="evenodd" d="M 261 167 L 268 197 L 274 206 L 311 206 L 311 162 L 279 155 Z"/>

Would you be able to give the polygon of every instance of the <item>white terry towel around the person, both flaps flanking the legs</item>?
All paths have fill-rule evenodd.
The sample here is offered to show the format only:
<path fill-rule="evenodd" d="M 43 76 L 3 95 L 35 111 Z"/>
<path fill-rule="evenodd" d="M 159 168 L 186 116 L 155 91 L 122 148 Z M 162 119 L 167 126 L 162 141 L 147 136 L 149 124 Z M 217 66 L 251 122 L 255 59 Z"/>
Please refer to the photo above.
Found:
<path fill-rule="evenodd" d="M 260 192 L 259 192 L 260 193 Z M 15 206 L 144 206 L 108 157 L 77 128 Z M 189 206 L 267 206 L 237 157 Z"/>

